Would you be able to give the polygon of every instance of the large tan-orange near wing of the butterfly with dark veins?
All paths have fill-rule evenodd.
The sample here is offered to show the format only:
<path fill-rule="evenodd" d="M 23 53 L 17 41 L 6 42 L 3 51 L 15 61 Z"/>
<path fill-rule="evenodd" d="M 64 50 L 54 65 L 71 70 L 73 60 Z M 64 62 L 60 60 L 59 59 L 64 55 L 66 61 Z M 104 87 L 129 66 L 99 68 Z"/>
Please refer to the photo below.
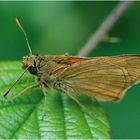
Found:
<path fill-rule="evenodd" d="M 66 68 L 59 79 L 65 92 L 86 94 L 98 101 L 119 100 L 140 80 L 140 56 L 97 57 Z"/>

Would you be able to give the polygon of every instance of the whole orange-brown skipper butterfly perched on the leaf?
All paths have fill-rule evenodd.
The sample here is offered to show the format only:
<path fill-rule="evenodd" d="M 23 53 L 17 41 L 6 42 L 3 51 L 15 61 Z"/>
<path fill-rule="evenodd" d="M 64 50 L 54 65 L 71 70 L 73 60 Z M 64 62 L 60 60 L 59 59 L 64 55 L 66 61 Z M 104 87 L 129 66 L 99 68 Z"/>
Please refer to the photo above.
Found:
<path fill-rule="evenodd" d="M 24 33 L 30 51 L 30 55 L 23 57 L 24 73 L 28 71 L 35 75 L 38 83 L 27 87 L 13 98 L 33 87 L 40 87 L 45 100 L 48 90 L 53 88 L 67 94 L 79 105 L 81 104 L 74 97 L 75 93 L 87 95 L 97 101 L 118 101 L 128 87 L 140 80 L 140 55 L 96 58 L 33 55 L 25 30 L 18 19 L 16 22 Z M 14 84 L 5 92 L 4 97 Z"/>

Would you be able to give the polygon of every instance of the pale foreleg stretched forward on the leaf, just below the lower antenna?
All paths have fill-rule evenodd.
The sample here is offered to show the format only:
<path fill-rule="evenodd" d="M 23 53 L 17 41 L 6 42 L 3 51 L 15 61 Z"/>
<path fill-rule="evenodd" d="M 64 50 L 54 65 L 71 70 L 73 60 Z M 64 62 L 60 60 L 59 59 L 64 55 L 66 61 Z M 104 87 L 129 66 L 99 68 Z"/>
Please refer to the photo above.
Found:
<path fill-rule="evenodd" d="M 14 100 L 15 98 L 19 97 L 20 95 L 22 95 L 23 93 L 25 93 L 26 91 L 32 89 L 32 88 L 37 88 L 39 87 L 39 84 L 35 84 L 35 85 L 31 85 L 25 89 L 23 89 L 22 91 L 20 91 L 18 94 L 16 94 L 15 96 L 13 96 L 10 100 L 6 99 L 6 102 L 10 102 L 11 100 Z"/>

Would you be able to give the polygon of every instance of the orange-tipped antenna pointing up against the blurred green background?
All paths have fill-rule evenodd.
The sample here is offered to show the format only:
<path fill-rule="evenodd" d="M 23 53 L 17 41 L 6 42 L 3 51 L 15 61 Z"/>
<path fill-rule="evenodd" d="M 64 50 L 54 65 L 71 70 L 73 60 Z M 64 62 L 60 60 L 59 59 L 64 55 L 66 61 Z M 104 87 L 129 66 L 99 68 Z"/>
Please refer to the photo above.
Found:
<path fill-rule="evenodd" d="M 29 44 L 29 41 L 28 41 L 27 34 L 26 34 L 26 32 L 25 32 L 25 30 L 24 30 L 23 26 L 21 25 L 21 23 L 20 23 L 18 18 L 16 18 L 16 23 L 17 23 L 18 27 L 21 29 L 21 31 L 23 32 L 23 34 L 25 36 L 25 39 L 26 39 L 26 43 L 27 43 L 28 49 L 30 51 L 30 55 L 32 55 L 33 53 L 32 53 L 32 50 L 31 50 L 31 47 L 30 47 L 30 44 Z"/>

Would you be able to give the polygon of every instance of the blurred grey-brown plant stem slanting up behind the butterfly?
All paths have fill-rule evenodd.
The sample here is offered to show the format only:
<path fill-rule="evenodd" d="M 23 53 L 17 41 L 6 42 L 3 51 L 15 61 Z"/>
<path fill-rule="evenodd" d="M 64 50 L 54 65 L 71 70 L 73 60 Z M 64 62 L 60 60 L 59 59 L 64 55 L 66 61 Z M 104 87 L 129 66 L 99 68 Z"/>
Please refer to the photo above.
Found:
<path fill-rule="evenodd" d="M 103 21 L 98 30 L 91 36 L 85 46 L 79 51 L 78 56 L 87 56 L 100 43 L 103 37 L 110 31 L 118 18 L 124 13 L 132 1 L 121 1 Z"/>

